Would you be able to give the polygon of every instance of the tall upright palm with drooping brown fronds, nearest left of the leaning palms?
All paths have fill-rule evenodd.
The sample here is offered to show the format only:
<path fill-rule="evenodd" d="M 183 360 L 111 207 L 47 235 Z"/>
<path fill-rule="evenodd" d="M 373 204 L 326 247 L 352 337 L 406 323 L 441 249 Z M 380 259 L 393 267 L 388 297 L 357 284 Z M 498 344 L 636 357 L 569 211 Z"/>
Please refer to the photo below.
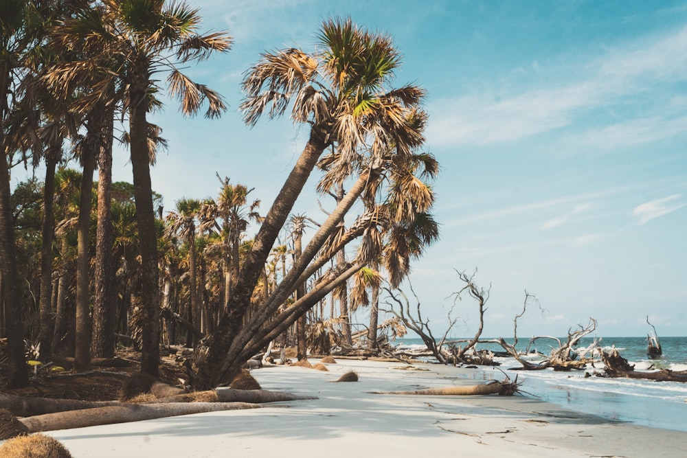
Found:
<path fill-rule="evenodd" d="M 183 2 L 164 0 L 102 0 L 77 2 L 71 19 L 54 31 L 54 43 L 85 54 L 82 62 L 67 62 L 52 73 L 55 86 L 93 87 L 81 106 L 109 95 L 114 84 L 128 115 L 131 165 L 142 262 L 142 371 L 157 376 L 159 363 L 159 286 L 155 209 L 150 184 L 150 124 L 148 113 L 159 104 L 150 97 L 161 90 L 156 73 L 168 74 L 169 93 L 181 102 L 186 115 L 208 102 L 206 117 L 217 117 L 226 106 L 212 89 L 179 71 L 179 65 L 227 51 L 225 32 L 196 33 L 199 11 Z M 78 49 L 77 49 L 78 47 Z"/>

